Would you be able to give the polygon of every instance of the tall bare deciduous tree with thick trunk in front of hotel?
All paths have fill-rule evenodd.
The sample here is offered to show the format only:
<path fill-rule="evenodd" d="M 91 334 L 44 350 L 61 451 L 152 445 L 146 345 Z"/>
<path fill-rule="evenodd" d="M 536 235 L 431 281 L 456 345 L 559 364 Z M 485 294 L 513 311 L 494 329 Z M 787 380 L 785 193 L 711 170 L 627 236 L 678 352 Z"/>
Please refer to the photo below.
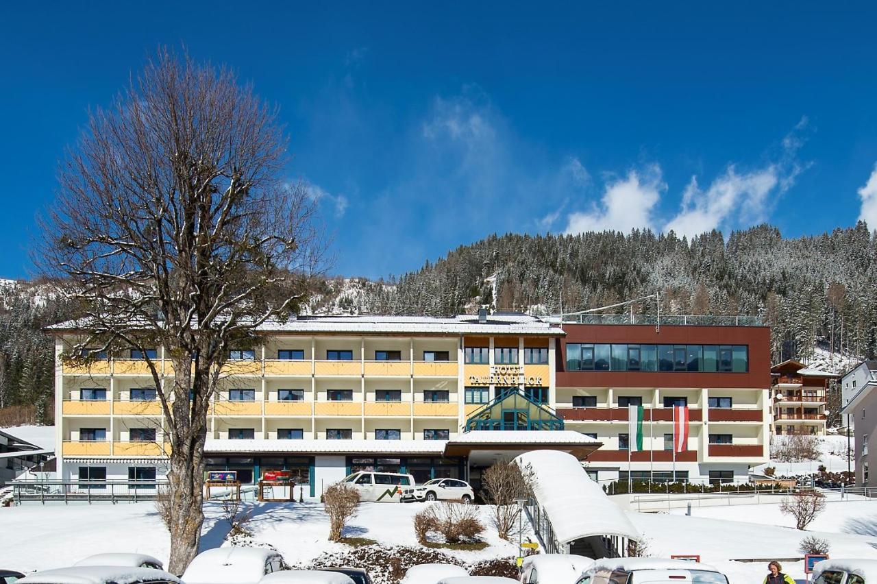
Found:
<path fill-rule="evenodd" d="M 296 310 L 320 262 L 314 202 L 280 180 L 285 146 L 275 110 L 231 71 L 160 51 L 89 115 L 41 220 L 35 259 L 81 314 L 65 359 L 132 348 L 152 374 L 173 573 L 198 549 L 207 412 L 229 350 Z M 164 370 L 146 352 L 159 346 Z"/>

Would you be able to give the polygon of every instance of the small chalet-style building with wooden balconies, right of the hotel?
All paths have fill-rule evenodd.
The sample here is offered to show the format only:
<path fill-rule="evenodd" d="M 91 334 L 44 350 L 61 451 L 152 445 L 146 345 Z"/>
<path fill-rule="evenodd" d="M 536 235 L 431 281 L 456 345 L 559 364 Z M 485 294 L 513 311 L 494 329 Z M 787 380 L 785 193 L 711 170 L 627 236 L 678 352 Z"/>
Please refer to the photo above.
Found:
<path fill-rule="evenodd" d="M 772 407 L 775 434 L 825 434 L 828 384 L 840 375 L 795 360 L 771 367 Z"/>

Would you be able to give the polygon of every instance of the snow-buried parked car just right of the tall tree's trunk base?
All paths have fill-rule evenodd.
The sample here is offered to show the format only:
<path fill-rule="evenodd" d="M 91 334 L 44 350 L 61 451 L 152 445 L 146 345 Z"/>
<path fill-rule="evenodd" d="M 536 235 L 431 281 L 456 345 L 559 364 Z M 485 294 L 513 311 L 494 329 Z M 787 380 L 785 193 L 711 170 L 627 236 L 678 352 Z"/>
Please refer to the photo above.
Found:
<path fill-rule="evenodd" d="M 215 547 L 196 555 L 182 580 L 186 584 L 258 584 L 284 568 L 277 552 L 259 547 Z"/>

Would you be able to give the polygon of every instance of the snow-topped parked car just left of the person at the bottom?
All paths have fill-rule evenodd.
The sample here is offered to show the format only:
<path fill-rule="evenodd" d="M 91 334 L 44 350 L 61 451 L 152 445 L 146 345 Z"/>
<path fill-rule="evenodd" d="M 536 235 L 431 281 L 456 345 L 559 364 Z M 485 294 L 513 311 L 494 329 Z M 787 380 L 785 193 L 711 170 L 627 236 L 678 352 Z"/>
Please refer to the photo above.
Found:
<path fill-rule="evenodd" d="M 628 581 L 631 576 L 638 584 L 728 584 L 728 577 L 713 566 L 683 559 L 658 558 L 598 559 L 581 573 L 576 584 L 612 584 Z"/>

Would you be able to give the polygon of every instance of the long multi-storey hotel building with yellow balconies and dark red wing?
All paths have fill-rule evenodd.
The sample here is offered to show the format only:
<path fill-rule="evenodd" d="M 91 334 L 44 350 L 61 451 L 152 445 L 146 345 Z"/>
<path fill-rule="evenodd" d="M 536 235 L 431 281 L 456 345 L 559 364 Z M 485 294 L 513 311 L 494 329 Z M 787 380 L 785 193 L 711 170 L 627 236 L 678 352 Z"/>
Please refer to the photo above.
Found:
<path fill-rule="evenodd" d="M 425 481 L 458 477 L 537 448 L 574 453 L 598 480 L 628 470 L 626 405 L 645 408 L 646 452 L 634 478 L 669 478 L 670 405 L 691 409 L 678 478 L 745 481 L 766 461 L 768 329 L 589 325 L 516 314 L 298 317 L 265 325 L 232 351 L 212 398 L 208 470 L 245 483 L 292 471 L 310 495 L 366 468 Z M 72 367 L 56 342 L 56 427 L 63 481 L 160 479 L 168 444 L 143 355 Z M 684 353 L 684 354 L 683 354 Z M 161 347 L 149 351 L 172 381 Z M 103 359 L 101 359 L 103 358 Z M 672 361 L 672 362 L 671 362 Z M 590 368 L 589 368 L 590 367 Z"/>

